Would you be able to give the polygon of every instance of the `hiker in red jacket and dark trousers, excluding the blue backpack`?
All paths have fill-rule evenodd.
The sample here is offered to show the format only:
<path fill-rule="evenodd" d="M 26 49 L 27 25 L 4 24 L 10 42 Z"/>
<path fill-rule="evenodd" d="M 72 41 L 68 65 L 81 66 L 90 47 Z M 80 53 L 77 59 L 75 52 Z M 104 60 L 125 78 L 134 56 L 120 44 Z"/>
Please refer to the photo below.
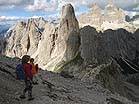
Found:
<path fill-rule="evenodd" d="M 33 100 L 32 97 L 32 66 L 28 63 L 30 60 L 30 56 L 29 55 L 24 55 L 22 57 L 22 67 L 23 67 L 23 71 L 25 72 L 25 89 L 23 90 L 23 94 L 20 96 L 21 99 L 25 99 L 25 94 L 26 92 L 28 92 L 28 100 Z"/>

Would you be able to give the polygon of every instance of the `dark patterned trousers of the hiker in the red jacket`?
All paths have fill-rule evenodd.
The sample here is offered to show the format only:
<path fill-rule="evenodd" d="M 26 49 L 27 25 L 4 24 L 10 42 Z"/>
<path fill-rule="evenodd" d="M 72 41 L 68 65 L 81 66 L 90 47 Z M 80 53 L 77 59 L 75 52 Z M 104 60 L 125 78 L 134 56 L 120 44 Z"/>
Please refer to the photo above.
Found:
<path fill-rule="evenodd" d="M 25 96 L 26 92 L 28 92 L 28 97 L 32 97 L 32 82 L 29 79 L 25 80 L 25 89 L 23 90 L 23 95 Z"/>

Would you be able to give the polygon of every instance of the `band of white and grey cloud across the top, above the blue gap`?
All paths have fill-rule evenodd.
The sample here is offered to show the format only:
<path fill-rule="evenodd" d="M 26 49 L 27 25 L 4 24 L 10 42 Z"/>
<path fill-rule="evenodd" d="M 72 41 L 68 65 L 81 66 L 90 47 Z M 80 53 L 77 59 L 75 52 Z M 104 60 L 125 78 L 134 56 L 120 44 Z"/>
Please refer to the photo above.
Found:
<path fill-rule="evenodd" d="M 91 7 L 97 3 L 101 8 L 104 8 L 110 1 L 113 1 L 117 7 L 139 11 L 137 8 L 139 0 L 0 0 L 0 9 L 22 7 L 27 11 L 53 11 L 61 10 L 61 7 L 66 3 L 71 3 L 74 8 L 79 8 L 81 5 Z"/>

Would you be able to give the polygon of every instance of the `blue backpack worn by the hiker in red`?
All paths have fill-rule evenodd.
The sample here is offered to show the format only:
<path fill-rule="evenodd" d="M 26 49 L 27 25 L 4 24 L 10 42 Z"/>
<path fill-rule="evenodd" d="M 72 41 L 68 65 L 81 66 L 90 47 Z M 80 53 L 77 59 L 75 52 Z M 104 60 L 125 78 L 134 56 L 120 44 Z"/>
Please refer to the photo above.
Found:
<path fill-rule="evenodd" d="M 23 70 L 22 64 L 18 64 L 16 66 L 16 78 L 18 80 L 24 80 L 26 78 L 26 74 L 25 74 L 25 72 Z"/>

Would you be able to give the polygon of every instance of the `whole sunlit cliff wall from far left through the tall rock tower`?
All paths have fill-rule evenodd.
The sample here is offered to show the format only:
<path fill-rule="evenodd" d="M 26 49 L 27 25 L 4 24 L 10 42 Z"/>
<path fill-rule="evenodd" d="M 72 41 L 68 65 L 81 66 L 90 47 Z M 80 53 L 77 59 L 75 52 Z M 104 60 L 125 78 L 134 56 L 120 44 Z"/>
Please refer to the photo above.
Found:
<path fill-rule="evenodd" d="M 79 51 L 79 24 L 71 4 L 62 7 L 59 24 L 43 18 L 28 19 L 11 27 L 5 54 L 22 57 L 29 54 L 41 67 L 54 70 L 72 60 Z"/>

